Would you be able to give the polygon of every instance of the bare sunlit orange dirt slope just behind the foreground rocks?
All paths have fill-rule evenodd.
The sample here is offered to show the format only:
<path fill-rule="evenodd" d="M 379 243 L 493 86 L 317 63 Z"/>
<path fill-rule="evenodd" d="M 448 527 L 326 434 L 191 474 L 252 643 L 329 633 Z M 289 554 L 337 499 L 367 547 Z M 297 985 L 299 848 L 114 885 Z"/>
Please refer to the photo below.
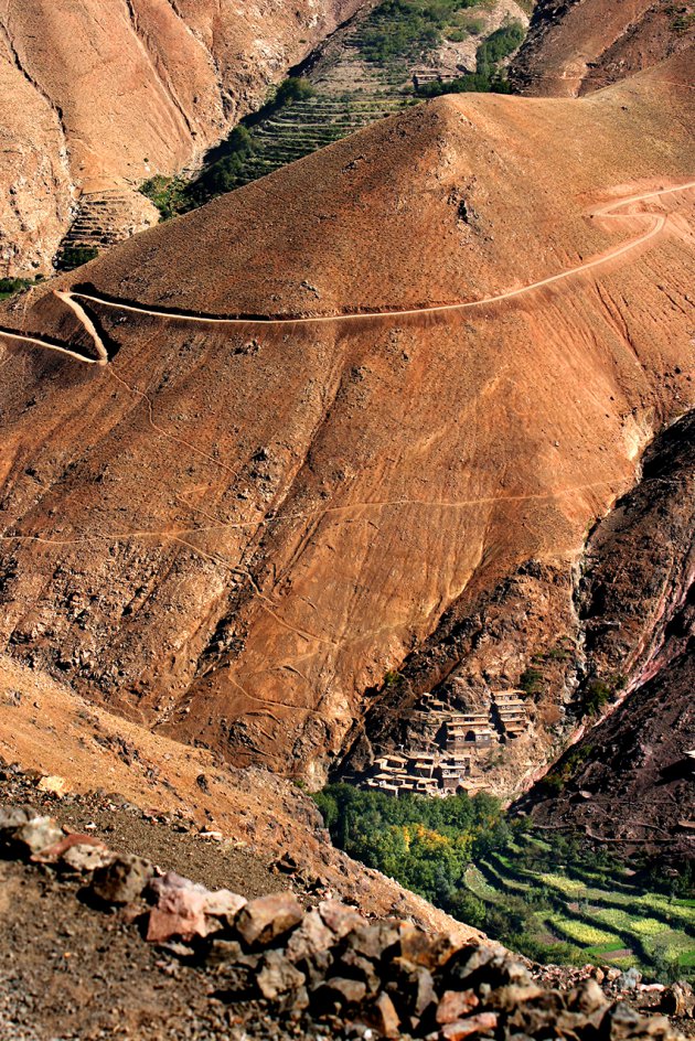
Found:
<path fill-rule="evenodd" d="M 0 797 L 43 799 L 67 824 L 94 823 L 109 846 L 136 849 L 196 881 L 238 880 L 242 892 L 288 884 L 333 892 L 366 914 L 398 913 L 461 938 L 478 935 L 334 849 L 314 804 L 295 784 L 152 734 L 1 656 L 0 755 L 35 773 L 32 780 L 6 769 Z M 63 777 L 66 796 L 42 796 L 42 775 Z M 130 807 L 121 806 L 124 799 Z M 200 829 L 218 829 L 222 841 Z M 275 868 L 287 852 L 297 863 L 290 877 Z"/>

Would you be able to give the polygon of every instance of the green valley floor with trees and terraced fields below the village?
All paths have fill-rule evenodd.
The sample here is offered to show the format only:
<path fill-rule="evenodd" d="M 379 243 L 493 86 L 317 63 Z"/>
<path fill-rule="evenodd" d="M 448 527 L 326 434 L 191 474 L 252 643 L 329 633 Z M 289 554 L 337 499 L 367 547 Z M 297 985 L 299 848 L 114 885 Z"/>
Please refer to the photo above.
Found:
<path fill-rule="evenodd" d="M 667 883 L 649 866 L 628 872 L 579 838 L 507 818 L 484 793 L 394 798 L 334 784 L 314 798 L 341 849 L 528 957 L 693 976 L 686 867 Z"/>

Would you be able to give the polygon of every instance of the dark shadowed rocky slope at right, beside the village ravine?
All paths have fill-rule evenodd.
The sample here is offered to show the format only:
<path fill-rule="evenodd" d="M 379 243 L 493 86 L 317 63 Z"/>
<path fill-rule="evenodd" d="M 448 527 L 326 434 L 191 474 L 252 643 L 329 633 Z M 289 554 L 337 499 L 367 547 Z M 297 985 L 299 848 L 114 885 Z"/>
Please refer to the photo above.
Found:
<path fill-rule="evenodd" d="M 534 819 L 686 855 L 695 825 L 695 414 L 650 447 L 598 525 L 578 592 L 589 684 L 620 704 L 534 788 Z"/>

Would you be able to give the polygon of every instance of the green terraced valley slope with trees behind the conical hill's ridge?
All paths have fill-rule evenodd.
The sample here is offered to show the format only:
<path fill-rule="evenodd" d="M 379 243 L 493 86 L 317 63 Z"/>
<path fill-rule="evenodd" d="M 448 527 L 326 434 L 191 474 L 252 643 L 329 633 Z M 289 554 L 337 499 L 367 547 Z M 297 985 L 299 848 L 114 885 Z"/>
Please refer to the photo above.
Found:
<path fill-rule="evenodd" d="M 192 180 L 157 174 L 140 190 L 163 219 L 204 205 L 332 144 L 377 119 L 400 111 L 419 98 L 445 93 L 509 93 L 500 64 L 522 42 L 524 29 L 512 22 L 485 39 L 489 0 L 383 0 L 356 19 L 344 40 L 342 58 L 329 57 L 316 84 L 290 76 L 271 92 L 263 108 L 247 117 L 207 153 Z M 420 83 L 418 64 L 427 65 L 445 41 L 478 43 L 477 67 L 455 79 Z M 355 68 L 360 69 L 355 74 Z M 429 77 L 428 77 L 429 78 Z M 336 83 L 345 85 L 344 92 Z"/>

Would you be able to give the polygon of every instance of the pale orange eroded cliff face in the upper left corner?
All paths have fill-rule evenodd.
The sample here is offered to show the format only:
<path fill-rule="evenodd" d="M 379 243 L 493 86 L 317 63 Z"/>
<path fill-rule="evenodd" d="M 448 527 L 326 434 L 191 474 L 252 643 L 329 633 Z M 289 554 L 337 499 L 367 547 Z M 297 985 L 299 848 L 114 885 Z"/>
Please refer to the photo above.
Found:
<path fill-rule="evenodd" d="M 46 271 L 71 205 L 194 163 L 361 0 L 0 0 L 0 277 Z"/>

